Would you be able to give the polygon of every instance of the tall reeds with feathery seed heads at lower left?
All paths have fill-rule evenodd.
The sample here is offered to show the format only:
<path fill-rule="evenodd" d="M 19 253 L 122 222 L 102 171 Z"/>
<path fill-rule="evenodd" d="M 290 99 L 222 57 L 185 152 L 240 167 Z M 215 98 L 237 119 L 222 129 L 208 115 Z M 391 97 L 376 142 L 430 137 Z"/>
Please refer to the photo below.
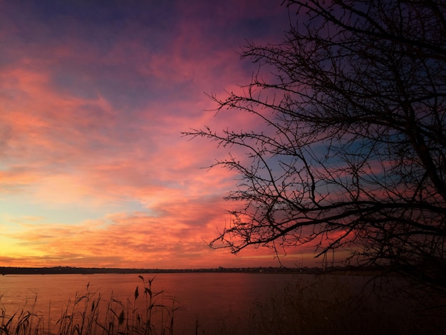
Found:
<path fill-rule="evenodd" d="M 68 299 L 56 320 L 51 314 L 36 311 L 36 299 L 31 306 L 26 305 L 7 314 L 0 309 L 0 334 L 174 334 L 174 314 L 177 301 L 166 297 L 164 292 L 152 289 L 153 278 L 142 280 L 142 289 L 136 287 L 133 298 L 120 301 L 113 297 L 103 299 L 100 292 L 91 292 L 89 284 L 83 293 L 76 293 L 74 299 Z M 1 300 L 1 296 L 0 296 Z M 169 304 L 165 304 L 167 301 Z M 51 306 L 49 308 L 51 310 Z"/>

